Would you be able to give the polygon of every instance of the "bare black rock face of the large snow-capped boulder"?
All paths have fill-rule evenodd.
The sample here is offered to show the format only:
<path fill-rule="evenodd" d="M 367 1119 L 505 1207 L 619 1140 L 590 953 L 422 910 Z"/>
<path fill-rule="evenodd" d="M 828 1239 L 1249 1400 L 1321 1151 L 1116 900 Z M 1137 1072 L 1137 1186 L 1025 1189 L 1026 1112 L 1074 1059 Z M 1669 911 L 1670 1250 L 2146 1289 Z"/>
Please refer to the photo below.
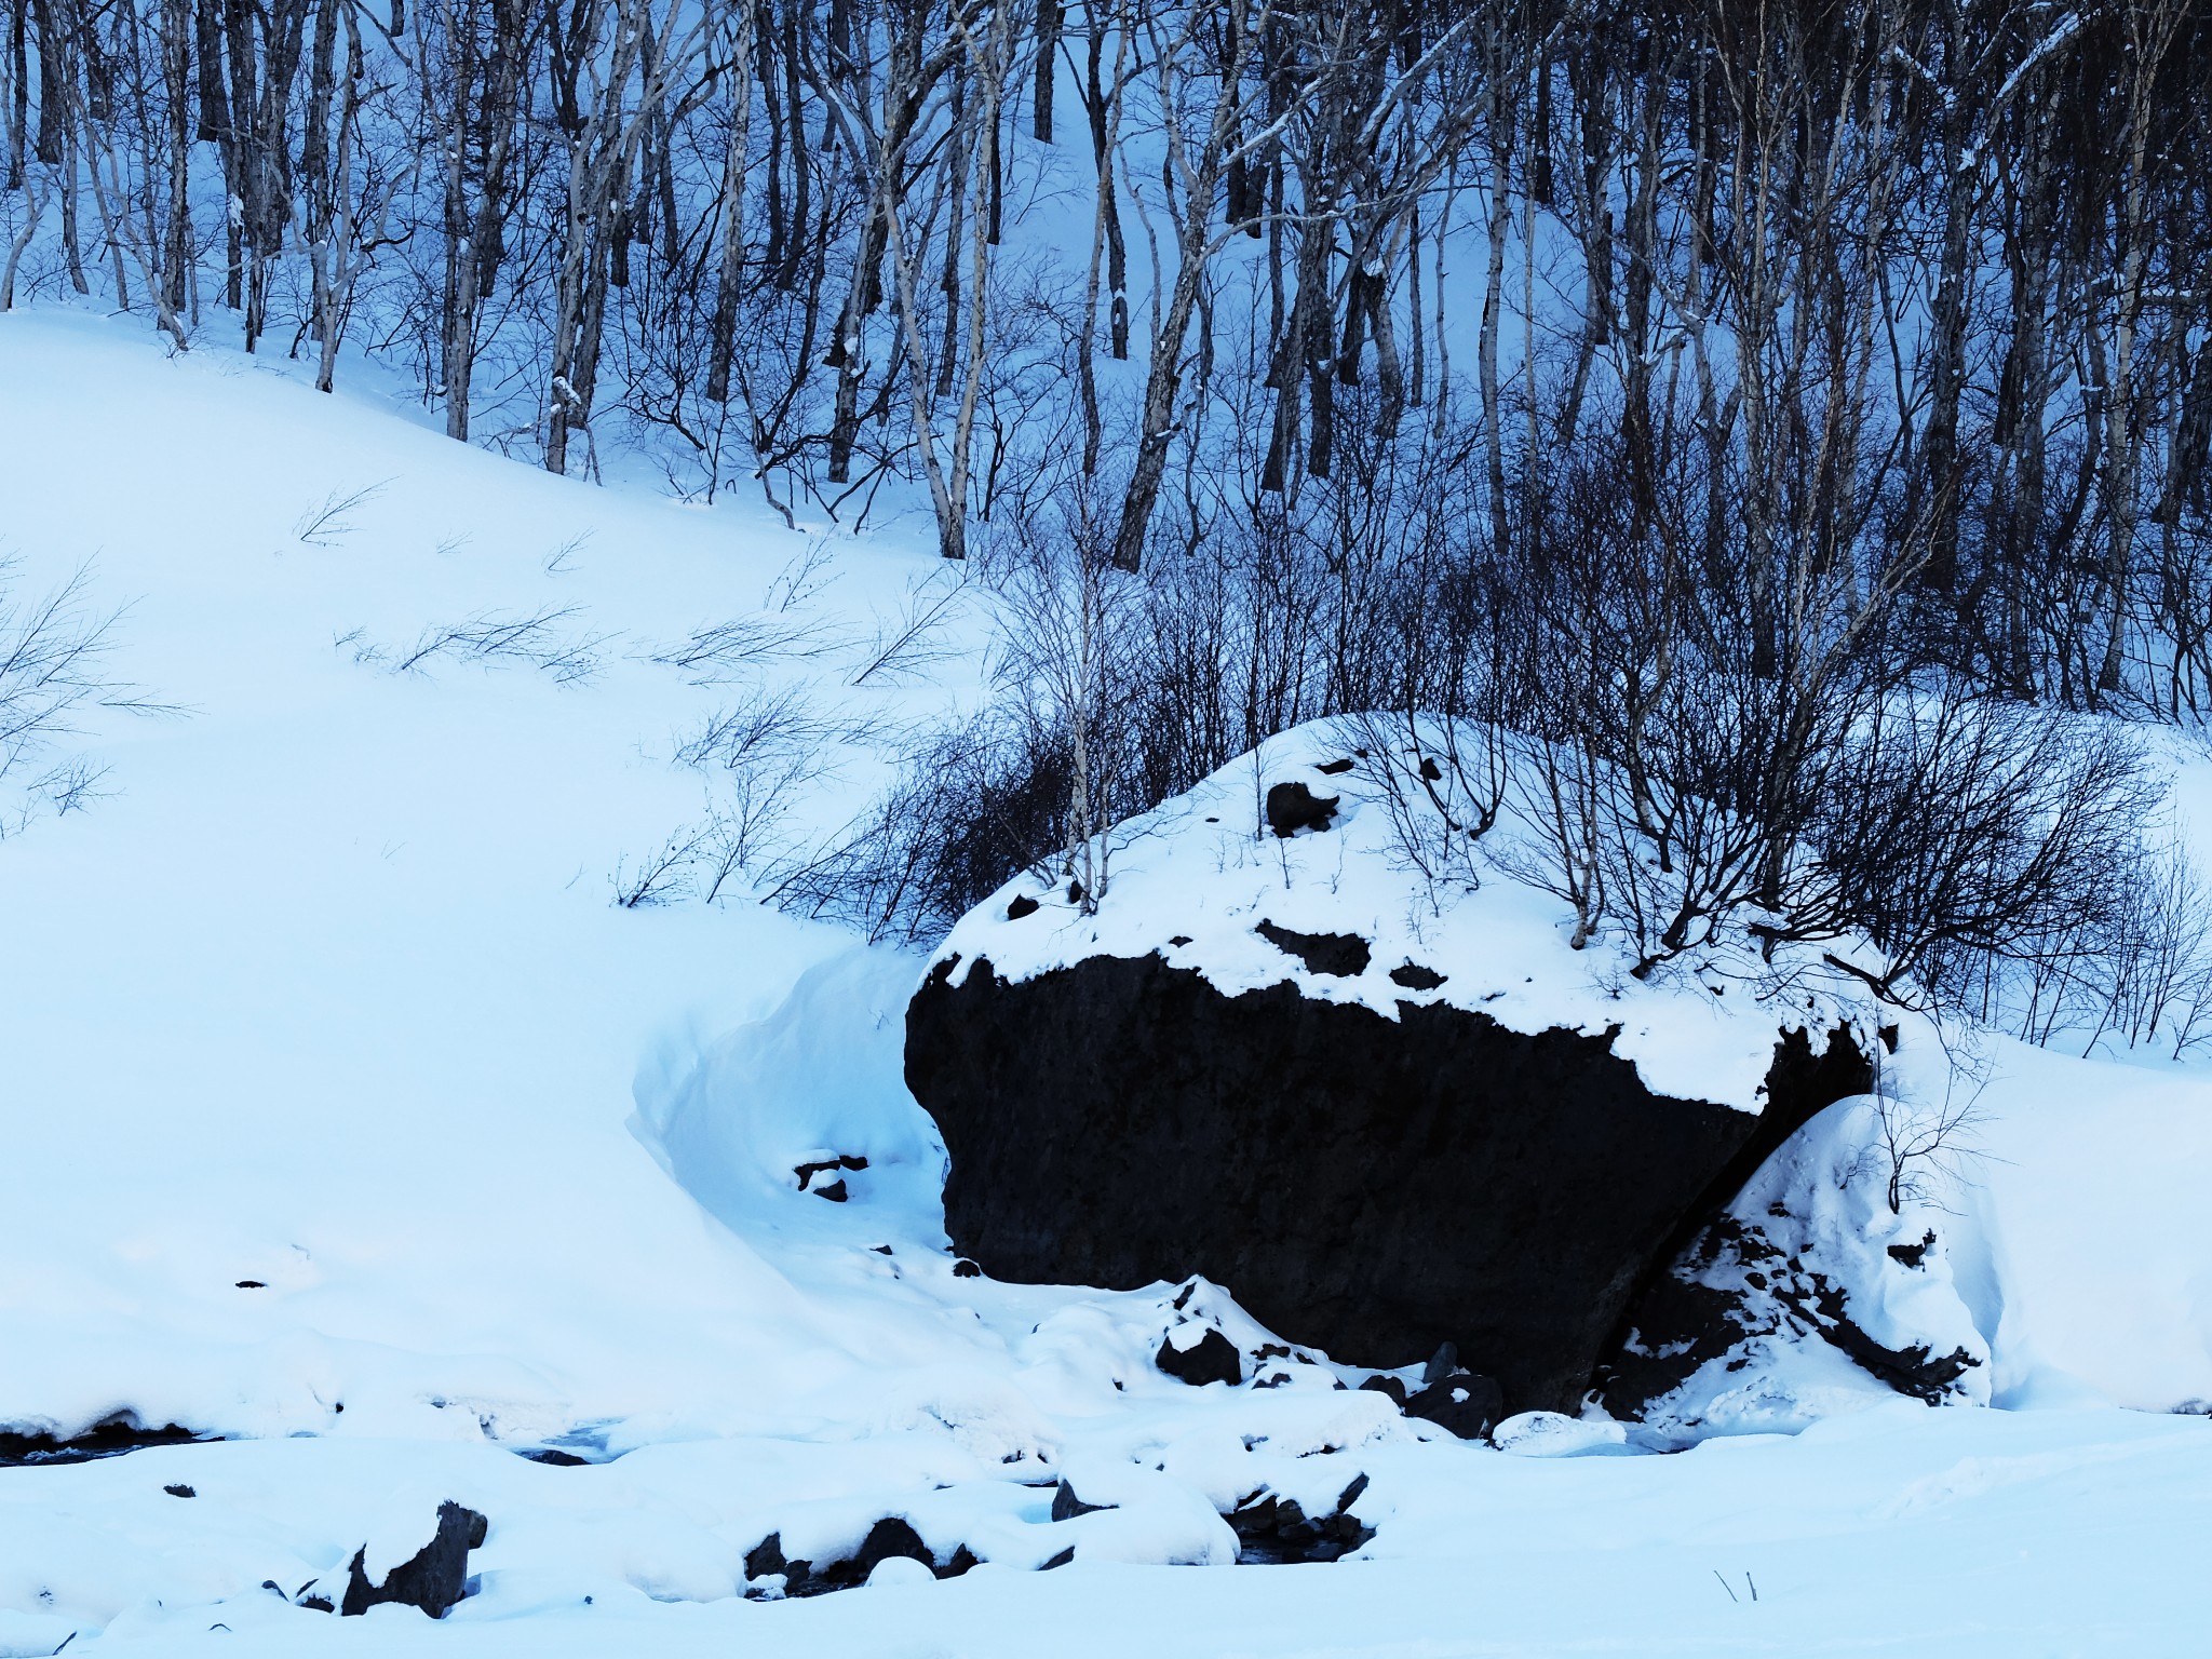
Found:
<path fill-rule="evenodd" d="M 1606 1037 L 1442 1002 L 1391 1022 L 1290 982 L 1228 995 L 1161 956 L 953 969 L 907 1011 L 907 1086 L 951 1152 L 964 1256 L 1013 1281 L 1206 1274 L 1338 1360 L 1455 1343 L 1509 1411 L 1573 1411 L 1646 1283 L 1869 1077 L 1843 1033 L 1823 1055 L 1792 1033 L 1743 1113 L 1655 1095 Z"/>

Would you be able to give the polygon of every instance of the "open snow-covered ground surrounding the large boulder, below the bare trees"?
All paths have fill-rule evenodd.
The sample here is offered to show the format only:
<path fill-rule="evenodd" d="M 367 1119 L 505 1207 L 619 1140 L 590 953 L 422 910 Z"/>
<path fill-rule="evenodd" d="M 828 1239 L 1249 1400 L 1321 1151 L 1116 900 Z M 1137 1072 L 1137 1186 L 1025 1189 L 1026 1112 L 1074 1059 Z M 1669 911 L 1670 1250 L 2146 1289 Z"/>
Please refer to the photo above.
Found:
<path fill-rule="evenodd" d="M 1564 1420 L 1467 1447 L 1327 1365 L 1188 1389 L 1150 1365 L 1177 1321 L 1259 1340 L 1219 1292 L 953 1274 L 898 1082 L 920 958 L 613 902 L 708 812 L 672 754 L 710 714 L 843 721 L 799 807 L 832 823 L 973 690 L 982 602 L 872 670 L 945 582 L 927 535 L 405 414 L 0 316 L 11 593 L 88 564 L 113 672 L 179 708 L 91 719 L 106 799 L 0 841 L 0 1427 L 234 1436 L 0 1469 L 0 1655 L 2203 1652 L 2212 1084 L 1986 1046 L 1986 1157 L 1936 1197 L 1997 1409 L 1843 1376 L 1801 1433 L 1637 1455 Z M 529 650 L 396 668 L 515 619 Z M 783 644 L 650 661 L 723 622 Z M 1944 1057 L 1907 1042 L 1900 1082 L 1938 1097 Z M 801 1192 L 836 1155 L 849 1201 Z M 1053 1522 L 1062 1475 L 1117 1509 Z M 1356 1475 L 1356 1559 L 1219 1564 L 1219 1509 Z M 447 1498 L 491 1520 L 449 1619 L 292 1604 Z M 770 1531 L 827 1559 L 885 1515 L 987 1566 L 741 1597 Z"/>

